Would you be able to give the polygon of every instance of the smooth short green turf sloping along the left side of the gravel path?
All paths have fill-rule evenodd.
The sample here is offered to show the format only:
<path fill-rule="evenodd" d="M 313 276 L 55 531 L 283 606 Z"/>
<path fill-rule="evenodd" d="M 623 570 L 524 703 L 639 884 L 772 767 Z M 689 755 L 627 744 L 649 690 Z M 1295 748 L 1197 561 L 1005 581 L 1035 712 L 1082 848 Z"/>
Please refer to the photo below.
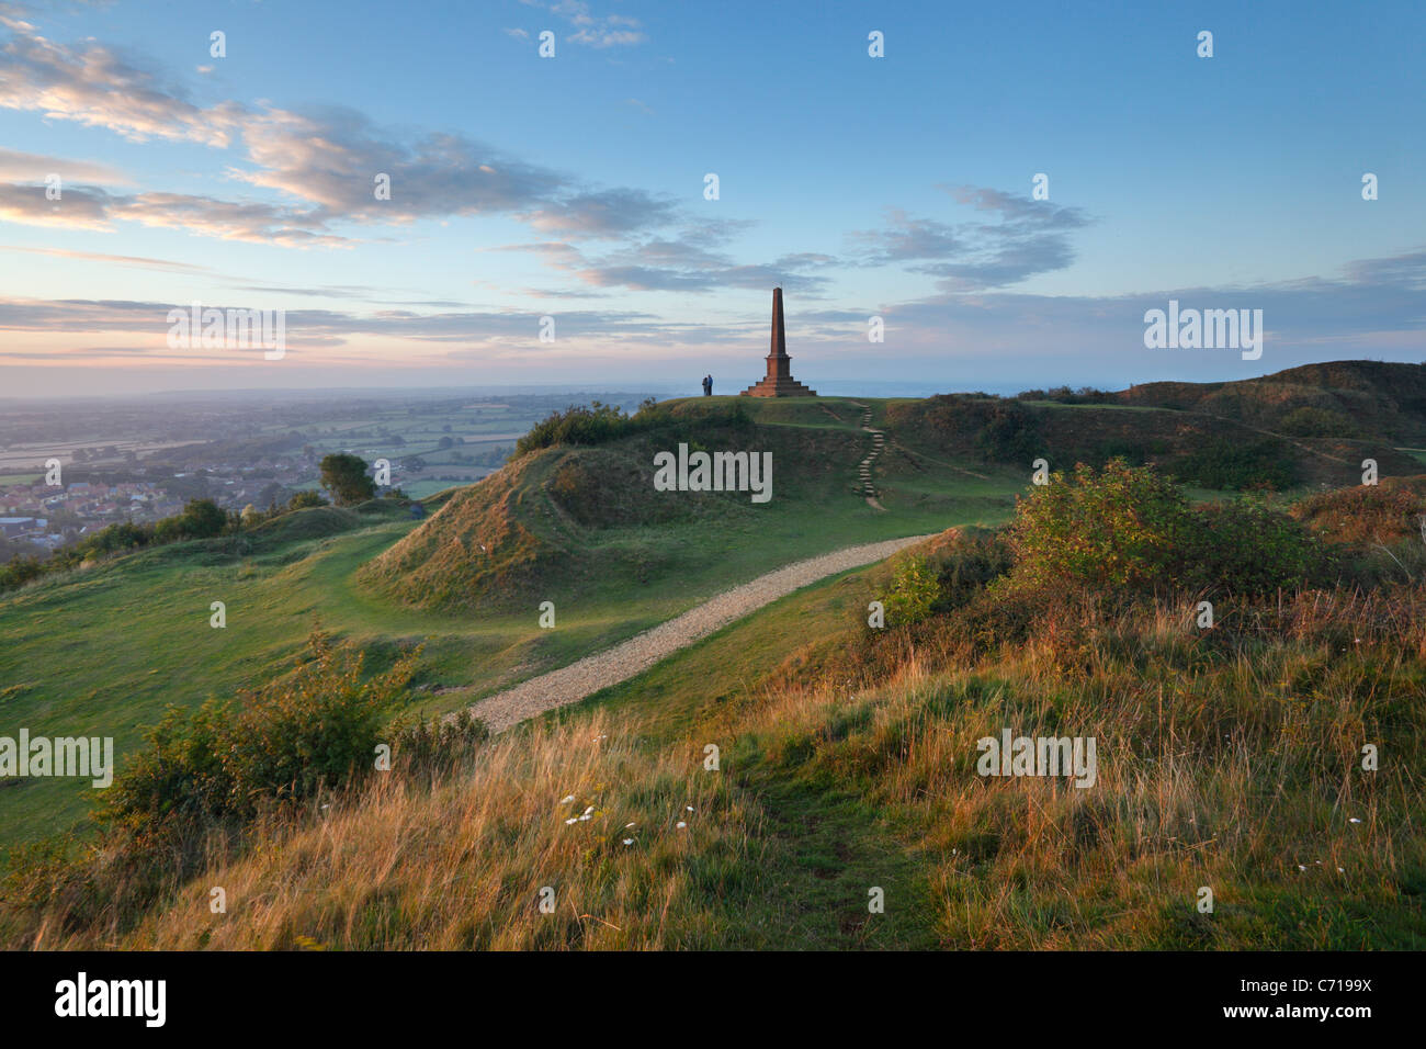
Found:
<path fill-rule="evenodd" d="M 836 422 L 820 411 L 786 414 L 793 418 L 783 424 L 833 424 L 856 435 L 858 451 L 867 444 L 850 421 Z M 844 410 L 850 420 L 856 414 Z M 774 492 L 783 498 L 736 507 L 704 528 L 566 525 L 556 539 L 586 545 L 595 558 L 617 549 L 626 567 L 642 557 L 647 567 L 578 589 L 550 579 L 545 591 L 520 592 L 525 608 L 445 612 L 394 604 L 358 582 L 358 569 L 416 522 L 399 517 L 334 522 L 328 518 L 337 511 L 325 508 L 302 511 L 281 535 L 260 538 L 247 555 L 183 544 L 41 581 L 0 595 L 6 638 L 0 725 L 11 735 L 20 726 L 31 735 L 113 735 L 121 761 L 165 705 L 194 706 L 255 684 L 285 665 L 318 624 L 368 645 L 378 661 L 395 644 L 425 641 L 424 682 L 442 691 L 432 692 L 424 709 L 443 712 L 616 644 L 790 561 L 954 522 L 1002 520 L 1011 492 L 1022 484 L 1008 474 L 994 482 L 965 478 L 971 484 L 963 491 L 963 475 L 923 480 L 914 501 L 887 500 L 888 512 L 878 514 L 851 491 L 854 474 L 853 460 L 800 485 L 793 470 L 780 467 Z M 351 531 L 338 531 L 352 524 Z M 556 601 L 553 631 L 538 627 L 538 604 L 546 598 Z M 225 629 L 208 625 L 212 601 L 227 604 Z M 0 788 L 0 845 L 83 829 L 90 806 L 86 785 L 9 781 Z"/>

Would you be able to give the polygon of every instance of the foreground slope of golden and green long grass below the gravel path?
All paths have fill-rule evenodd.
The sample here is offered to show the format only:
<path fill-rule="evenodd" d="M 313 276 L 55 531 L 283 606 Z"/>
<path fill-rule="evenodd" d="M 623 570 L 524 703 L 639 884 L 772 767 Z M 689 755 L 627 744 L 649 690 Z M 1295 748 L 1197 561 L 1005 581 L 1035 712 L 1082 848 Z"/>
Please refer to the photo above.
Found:
<path fill-rule="evenodd" d="M 1088 681 L 1037 644 L 960 668 L 913 661 L 857 694 L 776 686 L 846 638 L 884 579 L 877 567 L 800 591 L 506 734 L 431 794 L 381 791 L 208 872 L 125 945 L 1426 942 L 1412 756 L 1426 667 L 1389 631 L 1362 625 L 1379 659 L 1283 638 L 1243 661 L 1202 649 L 1184 617 L 1151 614 L 1091 624 L 1104 632 Z M 1092 729 L 1099 789 L 978 778 L 974 739 L 1001 725 Z M 1363 728 L 1403 759 L 1353 771 Z M 702 768 L 709 742 L 719 772 Z M 565 824 L 586 805 L 590 822 Z M 208 913 L 210 885 L 228 888 L 227 916 Z M 545 885 L 550 916 L 535 908 Z M 1195 911 L 1201 885 L 1212 916 Z M 871 886 L 884 915 L 867 912 Z"/>

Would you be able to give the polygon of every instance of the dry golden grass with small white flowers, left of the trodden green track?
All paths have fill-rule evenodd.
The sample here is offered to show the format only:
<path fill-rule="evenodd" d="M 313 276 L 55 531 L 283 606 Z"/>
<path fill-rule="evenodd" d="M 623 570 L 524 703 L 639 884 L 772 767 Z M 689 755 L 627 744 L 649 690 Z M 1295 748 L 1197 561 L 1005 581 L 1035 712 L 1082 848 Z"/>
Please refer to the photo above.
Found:
<path fill-rule="evenodd" d="M 627 729 L 605 715 L 540 726 L 501 736 L 429 788 L 388 779 L 332 804 L 315 825 L 264 835 L 121 945 L 645 949 L 704 936 L 713 945 L 717 929 L 700 921 L 696 898 L 716 889 L 719 865 L 756 863 L 756 824 L 726 781 L 702 774 L 700 755 L 650 761 Z M 590 808 L 588 821 L 566 824 Z M 700 855 L 716 862 L 690 875 Z M 224 889 L 227 913 L 211 913 L 212 886 Z M 538 906 L 545 886 L 553 913 Z M 684 921 L 670 942 L 674 909 Z M 86 943 L 94 941 L 47 946 Z"/>

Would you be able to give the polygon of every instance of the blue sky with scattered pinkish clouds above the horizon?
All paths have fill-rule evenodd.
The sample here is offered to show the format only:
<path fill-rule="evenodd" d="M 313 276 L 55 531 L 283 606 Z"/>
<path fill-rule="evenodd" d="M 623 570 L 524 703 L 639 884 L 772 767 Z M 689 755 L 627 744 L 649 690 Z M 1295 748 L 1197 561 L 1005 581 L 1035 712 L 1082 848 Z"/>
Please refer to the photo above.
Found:
<path fill-rule="evenodd" d="M 779 281 L 813 387 L 1426 360 L 1422 6 L 1144 7 L 0 0 L 0 394 L 730 391 Z M 1147 350 L 1169 298 L 1261 360 Z"/>

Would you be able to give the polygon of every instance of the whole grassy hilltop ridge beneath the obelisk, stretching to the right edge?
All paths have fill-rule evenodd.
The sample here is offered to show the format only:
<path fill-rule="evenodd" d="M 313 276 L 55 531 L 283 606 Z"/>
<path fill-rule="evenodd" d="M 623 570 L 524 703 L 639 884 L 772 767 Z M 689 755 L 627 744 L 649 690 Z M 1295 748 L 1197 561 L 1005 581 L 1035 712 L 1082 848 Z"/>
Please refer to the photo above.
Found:
<path fill-rule="evenodd" d="M 1383 477 L 1407 475 L 1420 460 L 1396 445 L 1426 440 L 1423 373 L 1349 361 L 1241 382 L 1152 384 L 1092 402 L 1032 394 L 667 401 L 597 444 L 519 455 L 452 497 L 359 579 L 401 607 L 445 612 L 635 588 L 709 595 L 710 581 L 749 578 L 754 567 L 834 544 L 1001 520 L 1038 458 L 1067 470 L 1122 455 L 1204 491 L 1359 484 L 1365 458 Z M 1349 385 L 1335 398 L 1313 385 L 1338 377 Z M 770 451 L 771 504 L 656 491 L 655 454 L 679 442 Z M 877 504 L 868 508 L 857 467 L 873 451 Z M 759 557 L 767 551 L 776 557 Z M 733 571 L 710 575 L 714 562 Z"/>

